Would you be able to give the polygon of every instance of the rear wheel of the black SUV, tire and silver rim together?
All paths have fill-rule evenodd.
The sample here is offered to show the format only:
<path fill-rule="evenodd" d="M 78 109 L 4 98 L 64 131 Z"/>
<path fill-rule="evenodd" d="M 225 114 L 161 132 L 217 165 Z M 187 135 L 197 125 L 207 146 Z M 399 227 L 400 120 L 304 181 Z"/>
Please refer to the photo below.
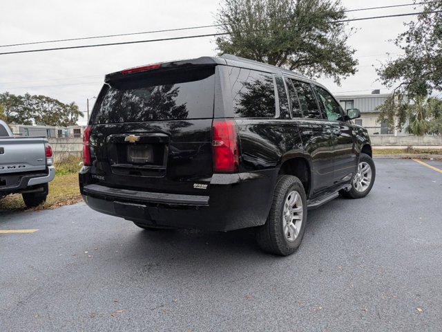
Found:
<path fill-rule="evenodd" d="M 262 250 L 288 256 L 301 244 L 307 223 L 307 197 L 296 176 L 280 175 L 267 221 L 256 228 Z"/>

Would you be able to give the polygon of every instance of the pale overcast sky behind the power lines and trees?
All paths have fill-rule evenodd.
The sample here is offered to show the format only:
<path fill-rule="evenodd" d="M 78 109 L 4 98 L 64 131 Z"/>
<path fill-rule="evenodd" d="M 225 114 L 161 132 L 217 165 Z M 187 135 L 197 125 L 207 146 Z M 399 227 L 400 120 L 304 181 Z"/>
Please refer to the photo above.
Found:
<path fill-rule="evenodd" d="M 348 9 L 411 2 L 412 0 L 343 0 Z M 0 1 L 0 44 L 209 25 L 213 24 L 218 3 L 219 1 L 208 0 Z M 349 17 L 371 17 L 412 11 L 412 6 L 366 10 L 350 12 Z M 352 91 L 352 94 L 370 93 L 372 89 L 382 89 L 383 86 L 376 82 L 376 72 L 372 64 L 378 66 L 380 62 L 385 61 L 386 53 L 392 53 L 392 57 L 397 56 L 398 49 L 389 39 L 403 32 L 403 23 L 411 19 L 413 18 L 397 17 L 350 22 L 357 28 L 356 33 L 349 39 L 349 44 L 358 50 L 358 72 L 344 80 L 341 86 L 326 78 L 319 81 L 335 94 L 347 94 L 347 91 Z M 133 37 L 2 47 L 0 52 L 213 32 L 215 29 L 205 28 Z M 86 98 L 97 95 L 106 73 L 142 64 L 215 53 L 214 37 L 204 37 L 148 44 L 0 55 L 0 92 L 48 95 L 66 103 L 74 101 L 81 111 L 86 111 Z M 388 90 L 382 89 L 381 93 L 383 92 Z M 85 119 L 79 121 L 80 124 L 85 122 Z"/>

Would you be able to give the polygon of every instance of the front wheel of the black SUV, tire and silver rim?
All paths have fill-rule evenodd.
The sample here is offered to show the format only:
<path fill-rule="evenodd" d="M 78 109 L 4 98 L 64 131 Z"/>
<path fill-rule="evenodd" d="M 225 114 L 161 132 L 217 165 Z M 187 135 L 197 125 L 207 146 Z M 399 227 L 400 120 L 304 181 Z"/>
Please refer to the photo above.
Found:
<path fill-rule="evenodd" d="M 340 190 L 340 196 L 346 199 L 361 199 L 372 190 L 376 178 L 376 167 L 372 157 L 368 154 L 361 154 L 359 157 L 358 171 L 352 179 L 352 189 Z"/>

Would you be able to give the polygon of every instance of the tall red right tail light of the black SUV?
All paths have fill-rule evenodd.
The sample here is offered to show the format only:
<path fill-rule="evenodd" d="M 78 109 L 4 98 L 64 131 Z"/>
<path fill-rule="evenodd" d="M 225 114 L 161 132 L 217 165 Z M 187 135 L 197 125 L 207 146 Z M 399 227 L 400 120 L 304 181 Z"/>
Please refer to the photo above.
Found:
<path fill-rule="evenodd" d="M 213 120 L 213 172 L 238 172 L 238 142 L 233 120 Z"/>

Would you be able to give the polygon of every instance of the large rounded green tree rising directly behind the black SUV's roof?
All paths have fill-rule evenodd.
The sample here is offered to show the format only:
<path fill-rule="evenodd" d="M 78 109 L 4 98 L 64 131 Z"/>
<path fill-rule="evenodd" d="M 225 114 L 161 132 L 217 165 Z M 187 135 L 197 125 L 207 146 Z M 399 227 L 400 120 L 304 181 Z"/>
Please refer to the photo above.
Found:
<path fill-rule="evenodd" d="M 216 44 L 230 53 L 298 71 L 309 77 L 340 80 L 356 73 L 356 50 L 340 0 L 224 0 Z M 351 33 L 352 29 L 349 29 Z"/>

